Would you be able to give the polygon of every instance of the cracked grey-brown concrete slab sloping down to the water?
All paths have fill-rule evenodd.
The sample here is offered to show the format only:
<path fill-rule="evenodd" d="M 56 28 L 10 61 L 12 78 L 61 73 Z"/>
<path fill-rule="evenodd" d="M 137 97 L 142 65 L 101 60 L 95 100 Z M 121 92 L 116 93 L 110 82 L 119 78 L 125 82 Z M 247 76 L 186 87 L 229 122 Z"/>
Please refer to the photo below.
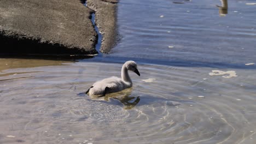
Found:
<path fill-rule="evenodd" d="M 106 35 L 103 38 L 104 50 L 105 47 L 112 46 L 105 41 L 113 35 L 108 34 L 107 29 L 115 29 L 113 27 L 117 1 L 94 1 L 98 5 L 97 11 L 100 12 L 96 13 L 96 23 L 103 29 L 103 37 Z M 102 8 L 106 5 L 110 6 Z M 79 0 L 0 0 L 0 53 L 95 54 L 97 33 L 91 23 L 90 13 L 92 10 Z M 106 13 L 107 17 L 103 19 L 106 15 L 103 16 L 102 13 Z"/>

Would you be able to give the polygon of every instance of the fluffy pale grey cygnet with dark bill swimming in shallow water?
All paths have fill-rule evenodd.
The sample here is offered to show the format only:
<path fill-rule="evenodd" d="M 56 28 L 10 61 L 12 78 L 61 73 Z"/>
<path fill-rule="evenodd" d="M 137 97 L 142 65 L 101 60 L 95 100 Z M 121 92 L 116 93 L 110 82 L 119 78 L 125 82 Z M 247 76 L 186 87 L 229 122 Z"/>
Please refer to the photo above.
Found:
<path fill-rule="evenodd" d="M 100 95 L 99 97 L 103 97 L 108 93 L 115 93 L 132 87 L 132 81 L 128 74 L 128 70 L 131 70 L 140 76 L 137 64 L 133 61 L 127 61 L 122 67 L 121 79 L 119 77 L 112 76 L 107 79 L 97 81 L 88 89 L 86 94 L 90 96 Z"/>

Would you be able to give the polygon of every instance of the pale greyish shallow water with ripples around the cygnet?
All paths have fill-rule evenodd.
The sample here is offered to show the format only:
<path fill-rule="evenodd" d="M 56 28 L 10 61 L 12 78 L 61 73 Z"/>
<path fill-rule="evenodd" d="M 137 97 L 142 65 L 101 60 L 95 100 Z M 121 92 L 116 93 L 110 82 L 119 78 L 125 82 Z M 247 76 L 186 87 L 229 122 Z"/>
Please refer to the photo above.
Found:
<path fill-rule="evenodd" d="M 0 81 L 0 124 L 5 129 L 0 142 L 253 143 L 256 139 L 254 70 L 229 69 L 237 77 L 225 79 L 209 75 L 210 68 L 139 64 L 141 77 L 130 73 L 132 89 L 105 98 L 83 94 L 96 80 L 119 76 L 120 69 L 121 64 L 115 63 L 77 62 L 4 70 L 0 80 L 31 77 Z M 18 74 L 8 75 L 14 72 Z M 154 80 L 142 81 L 146 79 Z M 128 104 L 133 104 L 130 109 Z"/>

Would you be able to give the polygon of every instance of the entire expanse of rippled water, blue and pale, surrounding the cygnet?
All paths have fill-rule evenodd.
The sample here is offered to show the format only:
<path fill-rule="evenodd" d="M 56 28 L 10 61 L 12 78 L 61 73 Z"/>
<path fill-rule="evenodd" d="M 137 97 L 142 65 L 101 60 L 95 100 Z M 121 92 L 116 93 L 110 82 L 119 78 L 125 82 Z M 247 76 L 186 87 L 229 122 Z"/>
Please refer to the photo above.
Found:
<path fill-rule="evenodd" d="M 108 55 L 1 58 L 0 143 L 255 143 L 253 2 L 123 0 Z M 127 60 L 132 88 L 84 94 Z"/>

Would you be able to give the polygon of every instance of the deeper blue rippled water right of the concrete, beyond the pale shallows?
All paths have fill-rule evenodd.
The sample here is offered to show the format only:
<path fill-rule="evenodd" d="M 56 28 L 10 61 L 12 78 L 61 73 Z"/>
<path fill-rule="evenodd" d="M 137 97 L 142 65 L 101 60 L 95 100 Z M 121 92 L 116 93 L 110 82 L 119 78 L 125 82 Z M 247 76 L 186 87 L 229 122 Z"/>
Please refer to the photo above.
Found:
<path fill-rule="evenodd" d="M 122 39 L 111 57 L 126 53 L 158 63 L 255 62 L 255 5 L 228 2 L 228 14 L 219 16 L 220 1 L 121 1 Z"/>

